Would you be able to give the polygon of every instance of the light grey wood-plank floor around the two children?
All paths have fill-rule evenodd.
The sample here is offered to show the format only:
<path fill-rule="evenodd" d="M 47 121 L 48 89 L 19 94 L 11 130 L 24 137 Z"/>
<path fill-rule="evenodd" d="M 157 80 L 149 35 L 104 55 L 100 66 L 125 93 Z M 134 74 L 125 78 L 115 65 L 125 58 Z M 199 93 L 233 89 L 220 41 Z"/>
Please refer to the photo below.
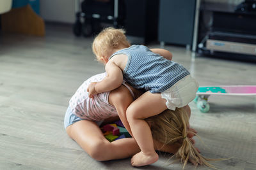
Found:
<path fill-rule="evenodd" d="M 94 60 L 92 38 L 75 38 L 70 27 L 47 25 L 44 38 L 0 36 L 0 169 L 132 169 L 130 159 L 97 162 L 68 138 L 63 118 L 77 87 L 104 68 Z M 159 45 L 150 45 L 159 47 Z M 256 64 L 191 57 L 183 47 L 165 46 L 200 85 L 256 85 Z M 211 110 L 195 103 L 191 127 L 202 155 L 230 157 L 219 169 L 256 169 L 255 97 L 211 96 Z M 120 151 L 122 152 L 122 151 Z M 168 157 L 136 169 L 181 169 Z M 192 169 L 189 165 L 186 169 Z M 198 169 L 208 169 L 199 167 Z"/>

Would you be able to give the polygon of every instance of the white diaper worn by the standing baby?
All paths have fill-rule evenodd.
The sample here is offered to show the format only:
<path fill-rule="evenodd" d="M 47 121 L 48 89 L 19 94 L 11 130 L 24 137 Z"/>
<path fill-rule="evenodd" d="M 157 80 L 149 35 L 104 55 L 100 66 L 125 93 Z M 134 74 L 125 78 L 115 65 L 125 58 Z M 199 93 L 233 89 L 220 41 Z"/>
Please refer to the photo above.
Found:
<path fill-rule="evenodd" d="M 177 81 L 172 87 L 161 92 L 163 99 L 166 99 L 166 106 L 170 110 L 182 108 L 196 97 L 198 82 L 190 74 Z"/>

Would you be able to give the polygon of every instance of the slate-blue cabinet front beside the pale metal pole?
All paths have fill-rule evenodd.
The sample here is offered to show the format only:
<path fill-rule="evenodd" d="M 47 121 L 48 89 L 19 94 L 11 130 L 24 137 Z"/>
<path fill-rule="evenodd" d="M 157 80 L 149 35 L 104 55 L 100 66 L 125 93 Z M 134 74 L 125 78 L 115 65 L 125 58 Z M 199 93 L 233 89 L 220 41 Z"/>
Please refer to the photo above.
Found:
<path fill-rule="evenodd" d="M 196 0 L 161 0 L 159 7 L 158 40 L 162 45 L 172 43 L 192 45 Z"/>

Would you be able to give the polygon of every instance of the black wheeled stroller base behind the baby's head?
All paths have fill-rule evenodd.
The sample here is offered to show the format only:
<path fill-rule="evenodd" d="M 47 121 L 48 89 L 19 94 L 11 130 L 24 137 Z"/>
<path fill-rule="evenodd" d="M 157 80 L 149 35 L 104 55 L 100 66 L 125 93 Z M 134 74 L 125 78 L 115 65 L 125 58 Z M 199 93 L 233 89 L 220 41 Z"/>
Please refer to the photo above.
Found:
<path fill-rule="evenodd" d="M 124 0 L 76 0 L 76 22 L 73 32 L 76 36 L 92 36 L 102 30 L 102 23 L 113 27 L 124 25 Z"/>

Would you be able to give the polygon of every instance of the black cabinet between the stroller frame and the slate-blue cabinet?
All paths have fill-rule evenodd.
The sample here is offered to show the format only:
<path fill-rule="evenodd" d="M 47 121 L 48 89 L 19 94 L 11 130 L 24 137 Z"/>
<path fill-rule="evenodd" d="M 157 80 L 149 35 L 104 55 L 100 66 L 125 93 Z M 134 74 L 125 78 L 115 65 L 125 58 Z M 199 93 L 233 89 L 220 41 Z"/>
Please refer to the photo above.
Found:
<path fill-rule="evenodd" d="M 159 0 L 125 0 L 127 39 L 133 44 L 157 40 Z"/>

